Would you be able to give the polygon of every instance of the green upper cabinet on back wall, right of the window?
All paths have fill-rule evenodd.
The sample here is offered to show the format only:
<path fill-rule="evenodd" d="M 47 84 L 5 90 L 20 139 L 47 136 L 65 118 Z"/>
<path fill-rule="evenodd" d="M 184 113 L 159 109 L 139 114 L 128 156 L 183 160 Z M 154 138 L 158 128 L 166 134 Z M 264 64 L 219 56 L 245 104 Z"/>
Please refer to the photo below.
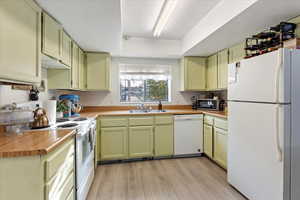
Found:
<path fill-rule="evenodd" d="M 183 91 L 206 89 L 206 58 L 184 57 L 181 60 L 181 89 Z"/>

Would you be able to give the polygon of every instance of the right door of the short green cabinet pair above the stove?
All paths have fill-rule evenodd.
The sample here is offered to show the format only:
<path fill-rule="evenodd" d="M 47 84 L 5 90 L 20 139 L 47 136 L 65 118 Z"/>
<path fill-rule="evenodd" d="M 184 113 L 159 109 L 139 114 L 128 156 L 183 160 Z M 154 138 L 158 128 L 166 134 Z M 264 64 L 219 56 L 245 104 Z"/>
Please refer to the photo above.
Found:
<path fill-rule="evenodd" d="M 61 62 L 69 67 L 72 65 L 72 39 L 65 31 L 61 31 Z"/>

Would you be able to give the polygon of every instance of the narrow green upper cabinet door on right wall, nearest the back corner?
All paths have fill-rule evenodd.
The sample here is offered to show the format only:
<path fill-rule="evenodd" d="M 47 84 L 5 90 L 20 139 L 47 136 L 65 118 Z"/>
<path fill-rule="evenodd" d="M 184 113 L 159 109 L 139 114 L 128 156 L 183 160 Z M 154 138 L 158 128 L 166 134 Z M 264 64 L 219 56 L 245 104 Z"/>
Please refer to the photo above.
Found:
<path fill-rule="evenodd" d="M 215 90 L 218 88 L 218 55 L 212 55 L 207 59 L 206 89 Z"/>

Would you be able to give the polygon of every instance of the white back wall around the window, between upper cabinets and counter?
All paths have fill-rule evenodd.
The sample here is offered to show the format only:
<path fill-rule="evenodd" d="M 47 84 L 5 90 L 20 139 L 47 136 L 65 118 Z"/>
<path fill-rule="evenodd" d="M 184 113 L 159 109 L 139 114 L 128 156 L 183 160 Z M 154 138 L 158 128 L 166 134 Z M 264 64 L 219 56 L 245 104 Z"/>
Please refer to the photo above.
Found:
<path fill-rule="evenodd" d="M 72 92 L 56 91 L 56 95 L 73 93 L 80 95 L 81 103 L 85 106 L 130 105 L 120 103 L 119 63 L 127 64 L 163 64 L 172 66 L 172 90 L 170 104 L 191 104 L 190 98 L 199 93 L 180 92 L 180 63 L 178 59 L 145 59 L 145 58 L 113 58 L 112 59 L 112 89 L 111 92 Z M 132 105 L 132 104 L 131 104 Z"/>

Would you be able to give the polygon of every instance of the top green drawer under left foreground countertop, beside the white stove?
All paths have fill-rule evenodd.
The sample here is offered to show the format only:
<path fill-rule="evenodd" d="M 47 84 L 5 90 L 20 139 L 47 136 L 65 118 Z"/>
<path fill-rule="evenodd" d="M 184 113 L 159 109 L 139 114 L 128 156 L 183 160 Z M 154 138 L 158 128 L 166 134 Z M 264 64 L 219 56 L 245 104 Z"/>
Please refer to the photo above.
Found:
<path fill-rule="evenodd" d="M 45 161 L 45 179 L 49 181 L 58 171 L 65 170 L 69 159 L 74 160 L 74 140 L 68 141 L 58 150 L 50 154 Z"/>

